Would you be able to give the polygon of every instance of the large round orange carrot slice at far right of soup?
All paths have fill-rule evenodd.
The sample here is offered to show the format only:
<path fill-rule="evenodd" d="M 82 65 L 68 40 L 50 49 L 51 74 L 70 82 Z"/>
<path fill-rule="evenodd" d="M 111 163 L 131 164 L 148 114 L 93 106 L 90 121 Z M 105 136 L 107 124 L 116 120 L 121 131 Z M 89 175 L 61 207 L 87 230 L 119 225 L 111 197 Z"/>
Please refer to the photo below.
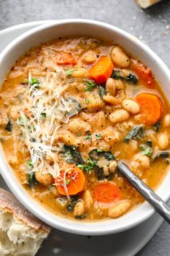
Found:
<path fill-rule="evenodd" d="M 135 97 L 140 105 L 140 121 L 143 124 L 155 124 L 161 118 L 162 104 L 157 95 L 150 93 L 141 93 Z"/>

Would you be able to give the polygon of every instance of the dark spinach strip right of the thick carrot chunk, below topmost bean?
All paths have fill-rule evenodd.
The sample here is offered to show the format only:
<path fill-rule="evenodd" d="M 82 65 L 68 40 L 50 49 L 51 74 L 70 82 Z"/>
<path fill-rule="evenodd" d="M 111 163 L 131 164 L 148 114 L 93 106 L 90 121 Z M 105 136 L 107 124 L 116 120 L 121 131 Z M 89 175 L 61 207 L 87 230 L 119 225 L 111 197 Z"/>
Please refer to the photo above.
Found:
<path fill-rule="evenodd" d="M 125 80 L 127 82 L 130 82 L 133 85 L 136 85 L 138 82 L 138 78 L 135 76 L 135 74 L 129 73 L 128 75 L 126 75 L 122 72 L 122 70 L 117 70 L 117 69 L 113 70 L 111 77 L 117 80 L 118 79 Z"/>

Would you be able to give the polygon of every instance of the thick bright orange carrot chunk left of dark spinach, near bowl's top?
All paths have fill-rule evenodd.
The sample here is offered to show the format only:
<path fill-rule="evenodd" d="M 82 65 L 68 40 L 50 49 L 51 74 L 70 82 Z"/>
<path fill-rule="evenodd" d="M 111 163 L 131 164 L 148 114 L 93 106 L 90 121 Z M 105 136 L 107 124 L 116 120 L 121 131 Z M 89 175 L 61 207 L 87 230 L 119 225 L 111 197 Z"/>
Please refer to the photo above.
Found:
<path fill-rule="evenodd" d="M 89 75 L 97 83 L 106 82 L 111 76 L 114 66 L 108 56 L 102 56 L 97 63 L 89 69 Z"/>

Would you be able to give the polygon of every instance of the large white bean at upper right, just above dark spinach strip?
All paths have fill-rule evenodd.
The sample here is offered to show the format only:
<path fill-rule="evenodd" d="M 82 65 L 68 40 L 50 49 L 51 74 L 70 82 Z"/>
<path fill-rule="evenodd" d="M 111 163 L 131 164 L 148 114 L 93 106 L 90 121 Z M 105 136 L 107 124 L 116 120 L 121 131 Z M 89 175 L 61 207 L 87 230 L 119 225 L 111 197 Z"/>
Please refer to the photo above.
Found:
<path fill-rule="evenodd" d="M 130 64 L 130 59 L 125 51 L 120 48 L 120 46 L 115 46 L 111 50 L 111 59 L 119 67 L 128 67 Z"/>

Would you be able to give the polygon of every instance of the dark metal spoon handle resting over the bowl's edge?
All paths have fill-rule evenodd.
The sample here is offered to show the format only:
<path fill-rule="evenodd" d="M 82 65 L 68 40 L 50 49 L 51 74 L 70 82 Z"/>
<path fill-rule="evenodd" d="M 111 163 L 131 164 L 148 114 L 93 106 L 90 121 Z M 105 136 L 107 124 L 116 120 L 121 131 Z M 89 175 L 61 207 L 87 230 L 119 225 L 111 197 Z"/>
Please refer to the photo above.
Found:
<path fill-rule="evenodd" d="M 163 200 L 161 200 L 152 189 L 150 189 L 141 179 L 136 176 L 133 171 L 122 161 L 117 162 L 119 171 L 125 176 L 130 184 L 135 187 L 135 189 L 142 195 L 146 201 L 153 206 L 153 208 L 158 212 L 168 223 L 170 223 L 170 207 Z"/>

